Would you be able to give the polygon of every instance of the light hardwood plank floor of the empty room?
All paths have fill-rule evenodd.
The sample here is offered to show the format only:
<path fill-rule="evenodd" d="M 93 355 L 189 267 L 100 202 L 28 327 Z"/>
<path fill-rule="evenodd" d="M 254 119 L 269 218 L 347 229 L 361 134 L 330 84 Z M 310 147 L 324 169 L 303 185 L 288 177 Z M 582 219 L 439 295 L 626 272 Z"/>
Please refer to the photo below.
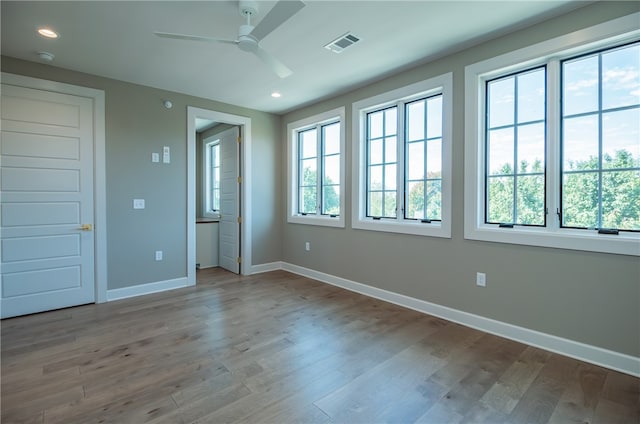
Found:
<path fill-rule="evenodd" d="M 2 423 L 637 423 L 640 379 L 286 272 L 2 322 Z"/>

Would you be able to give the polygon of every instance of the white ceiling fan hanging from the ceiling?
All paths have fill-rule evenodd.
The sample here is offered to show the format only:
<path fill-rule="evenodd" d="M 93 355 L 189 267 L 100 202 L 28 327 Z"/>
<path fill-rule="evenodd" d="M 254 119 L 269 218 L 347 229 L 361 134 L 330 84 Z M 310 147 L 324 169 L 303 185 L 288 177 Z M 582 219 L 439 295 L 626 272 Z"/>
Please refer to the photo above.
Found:
<path fill-rule="evenodd" d="M 258 56 L 258 58 L 267 64 L 280 78 L 286 78 L 293 73 L 291 69 L 260 47 L 260 41 L 269 35 L 271 31 L 282 25 L 287 19 L 298 13 L 298 11 L 304 6 L 305 4 L 300 0 L 281 0 L 276 3 L 269 13 L 267 13 L 258 26 L 254 27 L 251 25 L 251 17 L 258 14 L 258 2 L 241 0 L 238 2 L 238 8 L 240 10 L 240 14 L 246 18 L 246 24 L 240 25 L 238 38 L 235 40 L 199 35 L 175 34 L 171 32 L 154 32 L 154 34 L 158 37 L 173 38 L 177 40 L 235 44 L 240 48 L 240 50 L 253 53 Z"/>

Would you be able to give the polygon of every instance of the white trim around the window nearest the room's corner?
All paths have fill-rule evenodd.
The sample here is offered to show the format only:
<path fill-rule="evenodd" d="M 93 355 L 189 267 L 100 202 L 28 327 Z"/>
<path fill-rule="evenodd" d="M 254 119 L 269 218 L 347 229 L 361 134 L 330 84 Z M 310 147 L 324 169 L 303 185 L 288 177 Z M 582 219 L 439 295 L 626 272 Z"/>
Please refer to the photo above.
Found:
<path fill-rule="evenodd" d="M 301 215 L 298 213 L 298 137 L 300 130 L 313 125 L 340 122 L 340 214 Z M 345 214 L 345 108 L 329 110 L 287 124 L 287 222 L 344 228 Z"/>

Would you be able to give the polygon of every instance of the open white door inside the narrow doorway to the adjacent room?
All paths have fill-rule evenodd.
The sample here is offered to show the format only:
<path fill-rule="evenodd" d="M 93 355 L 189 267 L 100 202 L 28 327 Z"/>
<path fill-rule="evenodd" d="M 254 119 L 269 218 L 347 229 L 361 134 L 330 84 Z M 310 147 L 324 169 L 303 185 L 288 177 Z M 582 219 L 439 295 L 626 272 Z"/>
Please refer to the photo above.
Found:
<path fill-rule="evenodd" d="M 240 273 L 239 127 L 220 133 L 220 266 Z"/>

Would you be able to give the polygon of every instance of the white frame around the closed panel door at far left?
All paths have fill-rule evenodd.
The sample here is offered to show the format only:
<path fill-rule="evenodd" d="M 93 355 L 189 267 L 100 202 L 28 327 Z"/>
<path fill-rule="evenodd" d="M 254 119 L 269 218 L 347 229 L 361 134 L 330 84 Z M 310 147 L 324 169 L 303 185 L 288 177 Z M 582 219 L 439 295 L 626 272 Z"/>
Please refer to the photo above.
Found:
<path fill-rule="evenodd" d="M 2 72 L 2 83 L 85 97 L 93 104 L 93 227 L 95 302 L 107 301 L 107 195 L 103 90 Z"/>

